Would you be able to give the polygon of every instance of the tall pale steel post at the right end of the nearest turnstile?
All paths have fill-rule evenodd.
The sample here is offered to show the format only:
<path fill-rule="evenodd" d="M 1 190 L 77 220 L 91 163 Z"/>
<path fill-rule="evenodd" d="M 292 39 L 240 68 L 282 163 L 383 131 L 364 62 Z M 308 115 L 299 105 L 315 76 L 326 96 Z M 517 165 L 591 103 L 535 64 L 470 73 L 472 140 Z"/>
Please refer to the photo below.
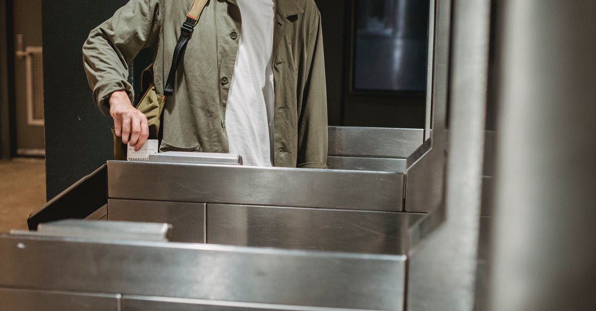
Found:
<path fill-rule="evenodd" d="M 445 222 L 411 250 L 407 310 L 474 307 L 491 1 L 464 0 L 453 4 L 451 16 L 450 1 L 436 2 L 437 29 L 451 29 L 443 25 L 453 21 L 452 36 L 442 39 L 452 38 L 453 51 Z M 437 47 L 445 43 L 439 41 L 440 35 L 437 32 L 435 36 Z M 439 64 L 436 59 L 435 66 Z M 435 76 L 447 73 L 446 68 L 436 67 Z M 433 127 L 433 136 L 437 132 Z M 433 144 L 433 149 L 436 147 Z M 408 182 L 409 178 L 408 172 Z"/>

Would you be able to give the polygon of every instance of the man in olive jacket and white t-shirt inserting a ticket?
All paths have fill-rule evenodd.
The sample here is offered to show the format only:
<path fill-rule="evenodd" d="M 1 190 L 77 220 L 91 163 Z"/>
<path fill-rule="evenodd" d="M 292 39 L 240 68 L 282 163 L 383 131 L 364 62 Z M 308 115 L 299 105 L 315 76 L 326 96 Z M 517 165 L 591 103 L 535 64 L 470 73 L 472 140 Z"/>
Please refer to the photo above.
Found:
<path fill-rule="evenodd" d="M 123 143 L 140 148 L 128 64 L 154 50 L 163 94 L 180 26 L 193 0 L 131 0 L 92 30 L 83 61 L 94 99 Z M 243 156 L 258 166 L 325 168 L 327 95 L 321 15 L 313 0 L 210 0 L 166 98 L 160 151 Z"/>

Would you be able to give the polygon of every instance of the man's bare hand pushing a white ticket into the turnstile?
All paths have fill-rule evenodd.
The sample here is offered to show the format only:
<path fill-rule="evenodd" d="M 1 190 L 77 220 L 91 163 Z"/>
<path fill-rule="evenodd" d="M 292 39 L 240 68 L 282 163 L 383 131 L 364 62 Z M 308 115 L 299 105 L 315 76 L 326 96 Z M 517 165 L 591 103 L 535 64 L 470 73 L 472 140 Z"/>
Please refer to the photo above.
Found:
<path fill-rule="evenodd" d="M 135 147 L 135 151 L 141 149 L 149 136 L 147 117 L 132 107 L 131 99 L 125 91 L 111 94 L 110 116 L 114 119 L 116 136 L 122 137 L 124 144 L 130 142 L 131 146 Z"/>

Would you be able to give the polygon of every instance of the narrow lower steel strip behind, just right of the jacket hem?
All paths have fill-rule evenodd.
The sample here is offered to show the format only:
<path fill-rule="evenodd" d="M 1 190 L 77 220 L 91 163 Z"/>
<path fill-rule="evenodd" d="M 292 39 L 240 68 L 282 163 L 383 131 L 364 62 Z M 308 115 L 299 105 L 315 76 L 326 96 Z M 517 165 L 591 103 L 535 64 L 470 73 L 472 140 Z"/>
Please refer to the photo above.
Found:
<path fill-rule="evenodd" d="M 405 158 L 327 157 L 327 167 L 336 170 L 405 172 Z"/>

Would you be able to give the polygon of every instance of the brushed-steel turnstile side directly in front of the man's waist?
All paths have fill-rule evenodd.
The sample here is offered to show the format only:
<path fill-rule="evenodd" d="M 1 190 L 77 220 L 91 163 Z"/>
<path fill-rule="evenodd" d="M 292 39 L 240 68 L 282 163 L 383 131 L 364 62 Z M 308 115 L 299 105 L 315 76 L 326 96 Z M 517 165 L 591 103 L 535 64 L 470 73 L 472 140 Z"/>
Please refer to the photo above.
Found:
<path fill-rule="evenodd" d="M 403 174 L 108 161 L 108 220 L 166 222 L 172 241 L 403 250 Z"/>

